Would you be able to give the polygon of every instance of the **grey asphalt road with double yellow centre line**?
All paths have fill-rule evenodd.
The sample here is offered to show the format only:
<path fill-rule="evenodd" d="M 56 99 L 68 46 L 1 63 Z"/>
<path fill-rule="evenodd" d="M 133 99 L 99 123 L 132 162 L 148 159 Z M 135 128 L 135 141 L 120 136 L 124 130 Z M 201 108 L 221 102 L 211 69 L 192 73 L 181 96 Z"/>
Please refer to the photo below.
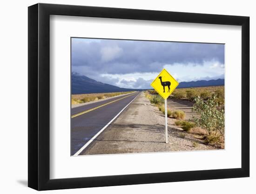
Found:
<path fill-rule="evenodd" d="M 138 94 L 139 92 L 136 92 L 134 94 L 127 94 L 109 100 L 103 100 L 81 107 L 72 108 L 71 155 L 77 153 L 81 147 L 83 147 L 92 137 L 94 137 L 95 134 L 97 134 L 103 127 L 105 127 L 108 122 L 111 121 L 118 113 L 120 113 L 120 111 L 125 106 L 127 106 Z M 102 106 L 104 104 L 107 105 Z M 99 108 L 91 110 L 95 107 Z M 85 113 L 81 114 L 83 112 Z"/>

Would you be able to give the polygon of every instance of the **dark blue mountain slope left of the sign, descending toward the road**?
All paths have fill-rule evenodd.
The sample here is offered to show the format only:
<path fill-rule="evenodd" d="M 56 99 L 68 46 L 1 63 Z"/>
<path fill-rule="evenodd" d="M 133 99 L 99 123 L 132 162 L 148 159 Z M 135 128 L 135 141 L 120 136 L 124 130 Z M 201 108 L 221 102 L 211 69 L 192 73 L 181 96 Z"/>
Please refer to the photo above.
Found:
<path fill-rule="evenodd" d="M 92 94 L 107 92 L 128 92 L 135 89 L 121 88 L 110 84 L 105 84 L 88 78 L 85 75 L 72 73 L 71 75 L 72 94 Z M 137 91 L 139 89 L 136 89 Z"/>

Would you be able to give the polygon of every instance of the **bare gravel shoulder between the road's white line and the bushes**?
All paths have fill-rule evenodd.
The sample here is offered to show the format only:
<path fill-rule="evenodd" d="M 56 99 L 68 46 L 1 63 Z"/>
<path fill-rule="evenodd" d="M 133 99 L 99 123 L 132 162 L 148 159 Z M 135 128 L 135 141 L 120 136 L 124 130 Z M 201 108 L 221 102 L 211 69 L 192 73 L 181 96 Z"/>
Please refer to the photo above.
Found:
<path fill-rule="evenodd" d="M 168 118 L 169 143 L 165 143 L 165 118 L 141 94 L 81 154 L 121 154 L 208 150 L 200 134 L 184 132 Z"/>

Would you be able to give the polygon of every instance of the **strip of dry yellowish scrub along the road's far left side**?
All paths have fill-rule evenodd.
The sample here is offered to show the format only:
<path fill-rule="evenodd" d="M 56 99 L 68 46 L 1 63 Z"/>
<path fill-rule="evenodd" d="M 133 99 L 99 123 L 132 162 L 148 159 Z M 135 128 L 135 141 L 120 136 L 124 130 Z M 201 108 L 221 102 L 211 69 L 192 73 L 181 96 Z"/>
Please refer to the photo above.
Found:
<path fill-rule="evenodd" d="M 71 95 L 71 104 L 80 104 L 109 97 L 114 97 L 121 94 L 129 94 L 130 92 L 112 92 L 112 93 L 100 93 L 100 94 L 73 94 Z"/>

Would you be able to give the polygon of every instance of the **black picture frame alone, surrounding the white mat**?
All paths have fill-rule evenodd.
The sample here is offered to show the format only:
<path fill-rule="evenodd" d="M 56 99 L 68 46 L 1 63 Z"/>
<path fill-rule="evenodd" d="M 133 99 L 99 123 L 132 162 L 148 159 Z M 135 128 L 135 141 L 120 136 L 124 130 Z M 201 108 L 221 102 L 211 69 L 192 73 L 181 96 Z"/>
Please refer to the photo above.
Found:
<path fill-rule="evenodd" d="M 51 180 L 50 15 L 242 26 L 242 167 Z M 28 187 L 52 190 L 236 177 L 249 177 L 249 17 L 41 3 L 28 7 Z"/>

